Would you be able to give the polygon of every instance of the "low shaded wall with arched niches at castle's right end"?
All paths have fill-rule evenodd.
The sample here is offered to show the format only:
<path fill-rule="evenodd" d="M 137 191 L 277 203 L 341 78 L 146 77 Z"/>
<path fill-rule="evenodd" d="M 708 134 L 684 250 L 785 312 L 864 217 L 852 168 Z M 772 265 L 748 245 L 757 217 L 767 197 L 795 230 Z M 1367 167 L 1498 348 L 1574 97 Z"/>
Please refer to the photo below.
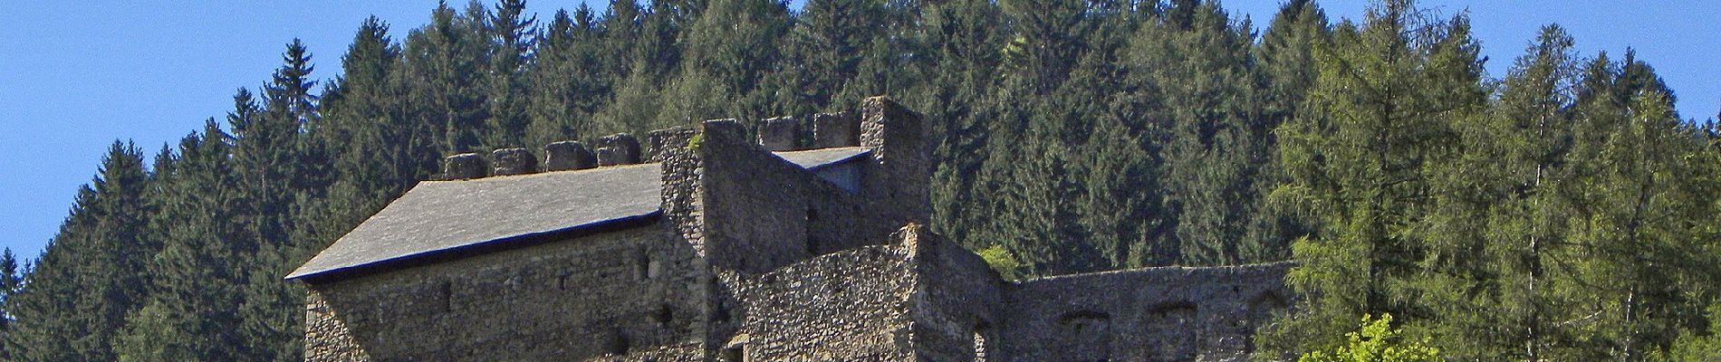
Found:
<path fill-rule="evenodd" d="M 1005 292 L 1010 360 L 1248 360 L 1291 262 L 1052 276 Z"/>

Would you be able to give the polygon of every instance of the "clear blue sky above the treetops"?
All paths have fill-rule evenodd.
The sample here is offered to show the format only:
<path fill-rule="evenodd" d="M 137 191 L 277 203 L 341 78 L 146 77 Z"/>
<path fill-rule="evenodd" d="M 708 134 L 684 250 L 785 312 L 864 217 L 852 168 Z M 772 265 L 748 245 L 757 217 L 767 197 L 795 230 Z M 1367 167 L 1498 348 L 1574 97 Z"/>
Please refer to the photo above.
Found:
<path fill-rule="evenodd" d="M 451 2 L 463 3 L 463 2 Z M 547 21 L 577 0 L 530 2 Z M 594 7 L 602 7 L 599 2 Z M 799 3 L 799 0 L 797 0 Z M 1265 26 L 1280 0 L 1227 0 L 1232 14 Z M 1368 2 L 1322 2 L 1327 14 L 1360 17 Z M 1542 24 L 1559 22 L 1588 57 L 1637 48 L 1678 93 L 1687 118 L 1721 106 L 1718 2 L 1423 0 L 1442 14 L 1470 9 L 1489 72 L 1502 75 Z M 17 2 L 0 15 L 0 245 L 34 257 L 53 237 L 77 187 L 95 175 L 114 139 L 155 151 L 220 118 L 237 87 L 263 84 L 281 51 L 301 38 L 318 77 L 339 58 L 360 21 L 377 15 L 396 39 L 429 19 L 435 2 Z"/>

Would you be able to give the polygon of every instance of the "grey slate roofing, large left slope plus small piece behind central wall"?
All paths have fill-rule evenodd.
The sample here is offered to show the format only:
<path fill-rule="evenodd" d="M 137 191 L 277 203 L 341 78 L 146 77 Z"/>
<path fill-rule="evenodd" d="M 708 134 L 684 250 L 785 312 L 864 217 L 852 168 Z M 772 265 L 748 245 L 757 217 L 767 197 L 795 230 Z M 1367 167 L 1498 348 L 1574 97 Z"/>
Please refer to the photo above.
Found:
<path fill-rule="evenodd" d="M 866 148 L 831 148 L 776 154 L 812 170 L 866 153 Z M 661 168 L 645 163 L 420 182 L 287 275 L 287 280 L 518 242 L 534 235 L 654 220 L 661 213 Z"/>

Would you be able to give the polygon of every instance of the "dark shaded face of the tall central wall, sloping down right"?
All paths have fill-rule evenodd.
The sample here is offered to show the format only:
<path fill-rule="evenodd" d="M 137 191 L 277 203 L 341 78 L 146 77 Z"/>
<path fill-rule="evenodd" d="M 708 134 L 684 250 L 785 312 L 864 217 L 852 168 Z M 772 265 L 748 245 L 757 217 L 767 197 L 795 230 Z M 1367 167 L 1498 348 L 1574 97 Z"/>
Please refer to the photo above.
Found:
<path fill-rule="evenodd" d="M 766 273 L 883 244 L 912 220 L 759 149 L 731 120 L 706 122 L 697 137 L 700 250 L 716 268 Z"/>

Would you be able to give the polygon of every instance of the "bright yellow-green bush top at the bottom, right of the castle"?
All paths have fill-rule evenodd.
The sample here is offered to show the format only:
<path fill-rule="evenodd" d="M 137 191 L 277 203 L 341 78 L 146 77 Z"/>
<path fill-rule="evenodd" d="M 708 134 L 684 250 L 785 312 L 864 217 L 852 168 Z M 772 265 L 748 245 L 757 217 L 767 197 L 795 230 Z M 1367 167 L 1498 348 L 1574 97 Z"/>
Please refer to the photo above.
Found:
<path fill-rule="evenodd" d="M 1392 329 L 1392 314 L 1380 314 L 1375 319 L 1363 314 L 1363 323 L 1356 331 L 1344 333 L 1346 343 L 1332 352 L 1310 352 L 1298 357 L 1298 362 L 1439 362 L 1440 348 L 1434 348 L 1427 340 L 1403 341 L 1399 329 Z"/>

